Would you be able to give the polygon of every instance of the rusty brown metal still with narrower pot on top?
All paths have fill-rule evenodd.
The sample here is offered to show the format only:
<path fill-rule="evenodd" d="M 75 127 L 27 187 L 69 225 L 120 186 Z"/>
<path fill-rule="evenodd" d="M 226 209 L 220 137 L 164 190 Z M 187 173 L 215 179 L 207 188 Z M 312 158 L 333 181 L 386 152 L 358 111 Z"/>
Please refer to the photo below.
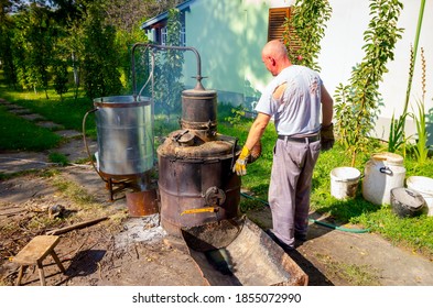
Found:
<path fill-rule="evenodd" d="M 158 148 L 161 224 L 172 235 L 239 216 L 241 184 L 232 172 L 237 142 L 217 134 L 216 103 L 215 91 L 183 91 L 182 129 Z"/>

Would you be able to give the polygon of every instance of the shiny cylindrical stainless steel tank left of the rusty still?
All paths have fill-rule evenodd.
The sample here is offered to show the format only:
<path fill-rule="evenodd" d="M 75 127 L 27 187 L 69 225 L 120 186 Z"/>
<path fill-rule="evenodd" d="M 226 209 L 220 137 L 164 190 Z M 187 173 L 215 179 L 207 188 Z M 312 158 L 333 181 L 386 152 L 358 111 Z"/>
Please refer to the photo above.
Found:
<path fill-rule="evenodd" d="M 139 176 L 153 167 L 153 116 L 150 98 L 94 100 L 99 173 L 107 178 Z"/>

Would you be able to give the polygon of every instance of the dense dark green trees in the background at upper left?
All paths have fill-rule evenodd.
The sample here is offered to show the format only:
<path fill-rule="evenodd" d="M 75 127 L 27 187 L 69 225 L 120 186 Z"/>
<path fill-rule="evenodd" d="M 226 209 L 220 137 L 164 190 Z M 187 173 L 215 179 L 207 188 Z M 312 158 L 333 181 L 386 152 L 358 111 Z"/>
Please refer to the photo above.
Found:
<path fill-rule="evenodd" d="M 62 96 L 73 67 L 75 94 L 90 98 L 129 86 L 130 48 L 143 20 L 178 0 L 0 0 L 0 65 L 10 85 Z M 121 76 L 121 74 L 123 76 Z M 80 77 L 83 77 L 82 81 Z"/>

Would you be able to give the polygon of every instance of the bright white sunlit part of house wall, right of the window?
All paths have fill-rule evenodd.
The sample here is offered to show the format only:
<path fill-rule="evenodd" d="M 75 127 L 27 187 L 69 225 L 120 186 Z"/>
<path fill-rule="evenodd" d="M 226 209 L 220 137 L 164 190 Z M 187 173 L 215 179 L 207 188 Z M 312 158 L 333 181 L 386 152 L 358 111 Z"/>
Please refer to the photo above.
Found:
<path fill-rule="evenodd" d="M 389 123 L 392 113 L 400 116 L 403 110 L 409 78 L 410 46 L 414 43 L 420 2 L 414 0 L 400 0 L 404 8 L 399 18 L 399 28 L 403 28 L 402 38 L 398 41 L 394 50 L 394 61 L 389 62 L 389 73 L 383 76 L 380 92 L 383 107 L 376 127 L 376 136 L 388 140 Z M 329 0 L 333 8 L 332 19 L 327 23 L 325 37 L 322 41 L 322 53 L 318 62 L 322 67 L 322 78 L 329 92 L 334 94 L 338 84 L 348 84 L 351 67 L 360 63 L 364 57 L 361 50 L 364 32 L 368 29 L 369 1 L 368 0 Z M 433 112 L 433 40 L 430 33 L 433 29 L 433 0 L 427 0 L 420 36 L 419 47 L 424 47 L 426 59 L 426 96 L 425 110 Z M 416 56 L 413 76 L 411 103 L 421 97 L 421 53 Z M 410 109 L 411 110 L 411 107 Z M 432 118 L 430 116 L 430 118 Z M 432 120 L 430 120 L 432 122 Z M 408 134 L 414 133 L 413 123 L 408 121 Z M 431 130 L 431 128 L 430 128 Z M 430 139 L 432 143 L 432 139 Z"/>

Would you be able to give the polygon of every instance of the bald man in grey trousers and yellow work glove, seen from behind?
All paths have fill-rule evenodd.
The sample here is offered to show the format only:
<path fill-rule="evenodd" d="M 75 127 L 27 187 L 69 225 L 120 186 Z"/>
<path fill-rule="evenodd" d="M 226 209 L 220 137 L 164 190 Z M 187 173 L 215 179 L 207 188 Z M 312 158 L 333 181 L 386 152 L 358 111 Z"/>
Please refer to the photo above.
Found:
<path fill-rule="evenodd" d="M 234 172 L 247 174 L 251 148 L 273 117 L 278 140 L 269 186 L 273 228 L 268 234 L 284 250 L 293 250 L 295 239 L 306 240 L 313 168 L 321 147 L 328 150 L 334 143 L 334 102 L 316 72 L 290 62 L 282 42 L 267 43 L 261 56 L 274 78 L 257 103 L 258 116 Z"/>

